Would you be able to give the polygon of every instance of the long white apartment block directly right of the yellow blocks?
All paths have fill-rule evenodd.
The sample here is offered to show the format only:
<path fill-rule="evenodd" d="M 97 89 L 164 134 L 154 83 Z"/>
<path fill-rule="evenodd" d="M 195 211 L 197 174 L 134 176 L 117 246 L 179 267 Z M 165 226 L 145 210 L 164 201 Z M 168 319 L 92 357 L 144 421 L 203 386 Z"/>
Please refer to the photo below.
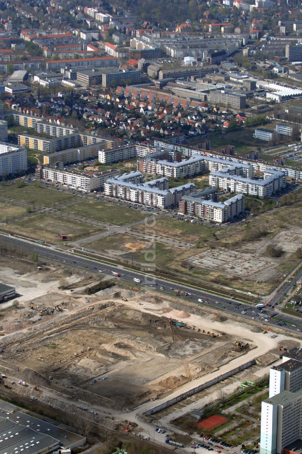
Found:
<path fill-rule="evenodd" d="M 99 162 L 102 164 L 117 163 L 119 161 L 127 161 L 138 157 L 144 157 L 146 154 L 152 153 L 153 147 L 148 147 L 140 143 L 131 143 L 130 145 L 120 145 L 116 148 L 99 151 Z"/>

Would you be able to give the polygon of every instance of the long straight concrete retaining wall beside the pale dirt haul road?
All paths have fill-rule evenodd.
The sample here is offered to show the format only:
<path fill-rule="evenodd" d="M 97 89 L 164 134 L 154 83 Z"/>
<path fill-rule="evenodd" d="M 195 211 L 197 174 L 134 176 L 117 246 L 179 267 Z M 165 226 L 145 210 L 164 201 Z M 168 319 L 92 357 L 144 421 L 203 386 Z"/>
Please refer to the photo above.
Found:
<path fill-rule="evenodd" d="M 187 399 L 187 397 L 197 394 L 200 391 L 205 390 L 206 388 L 209 388 L 210 386 L 216 385 L 216 383 L 218 383 L 219 381 L 223 381 L 226 378 L 231 377 L 232 375 L 238 374 L 238 372 L 241 372 L 244 369 L 248 369 L 248 367 L 251 367 L 254 364 L 256 364 L 256 360 L 251 360 L 251 361 L 248 361 L 247 363 L 244 363 L 244 364 L 236 367 L 235 369 L 225 372 L 222 375 L 218 375 L 217 377 L 213 378 L 212 380 L 209 380 L 206 383 L 203 383 L 203 385 L 196 386 L 195 388 L 192 388 L 191 390 L 188 390 L 183 394 L 179 394 L 178 396 L 174 397 L 173 399 L 167 400 L 166 402 L 163 402 L 162 404 L 151 408 L 150 410 L 148 410 L 146 412 L 146 415 L 149 415 L 149 416 L 154 415 L 158 411 L 171 407 L 172 405 L 177 404 L 178 402 L 181 402 L 182 400 Z"/>

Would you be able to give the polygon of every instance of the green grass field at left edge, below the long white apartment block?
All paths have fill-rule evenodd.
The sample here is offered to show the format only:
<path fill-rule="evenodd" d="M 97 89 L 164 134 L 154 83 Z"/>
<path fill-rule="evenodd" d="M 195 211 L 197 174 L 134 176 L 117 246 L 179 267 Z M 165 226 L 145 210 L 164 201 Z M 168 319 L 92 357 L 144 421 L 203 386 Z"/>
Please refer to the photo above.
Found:
<path fill-rule="evenodd" d="M 39 205 L 40 207 L 53 207 L 56 203 L 71 201 L 76 196 L 32 184 L 25 184 L 22 188 L 17 188 L 14 183 L 5 186 L 1 185 L 0 197 Z"/>

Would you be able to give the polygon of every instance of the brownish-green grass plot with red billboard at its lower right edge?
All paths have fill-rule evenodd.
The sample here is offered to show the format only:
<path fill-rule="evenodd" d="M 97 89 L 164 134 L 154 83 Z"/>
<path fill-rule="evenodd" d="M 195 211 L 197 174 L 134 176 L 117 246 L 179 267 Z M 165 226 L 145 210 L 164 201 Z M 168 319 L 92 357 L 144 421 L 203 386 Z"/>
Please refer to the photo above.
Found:
<path fill-rule="evenodd" d="M 70 222 L 64 217 L 41 213 L 31 216 L 30 220 L 13 222 L 5 229 L 53 244 L 62 243 L 60 234 L 68 235 L 68 240 L 74 241 L 100 231 L 99 227 L 83 222 Z"/>

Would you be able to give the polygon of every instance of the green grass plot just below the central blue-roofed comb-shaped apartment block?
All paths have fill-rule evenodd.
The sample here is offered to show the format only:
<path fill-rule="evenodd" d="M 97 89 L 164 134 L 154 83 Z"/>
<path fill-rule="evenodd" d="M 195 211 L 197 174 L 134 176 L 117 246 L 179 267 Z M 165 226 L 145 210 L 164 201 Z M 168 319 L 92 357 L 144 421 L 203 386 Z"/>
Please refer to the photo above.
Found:
<path fill-rule="evenodd" d="M 60 211 L 114 225 L 128 224 L 129 222 L 139 221 L 149 216 L 139 210 L 95 200 L 75 202 L 60 208 Z"/>

